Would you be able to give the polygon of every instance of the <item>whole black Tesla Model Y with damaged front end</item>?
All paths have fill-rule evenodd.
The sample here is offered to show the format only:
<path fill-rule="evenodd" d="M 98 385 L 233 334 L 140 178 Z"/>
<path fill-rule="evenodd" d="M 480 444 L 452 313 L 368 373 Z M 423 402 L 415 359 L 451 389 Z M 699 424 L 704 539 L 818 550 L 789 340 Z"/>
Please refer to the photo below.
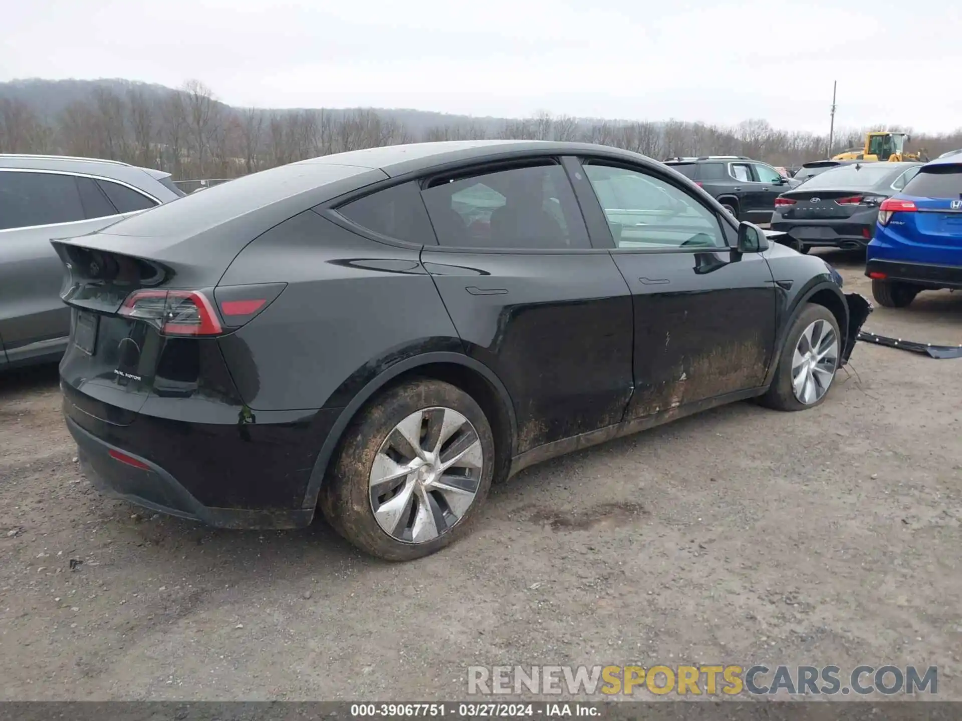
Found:
<path fill-rule="evenodd" d="M 870 311 L 667 166 L 438 142 L 295 162 L 54 241 L 91 481 L 384 559 L 531 463 L 723 403 L 818 406 Z"/>

